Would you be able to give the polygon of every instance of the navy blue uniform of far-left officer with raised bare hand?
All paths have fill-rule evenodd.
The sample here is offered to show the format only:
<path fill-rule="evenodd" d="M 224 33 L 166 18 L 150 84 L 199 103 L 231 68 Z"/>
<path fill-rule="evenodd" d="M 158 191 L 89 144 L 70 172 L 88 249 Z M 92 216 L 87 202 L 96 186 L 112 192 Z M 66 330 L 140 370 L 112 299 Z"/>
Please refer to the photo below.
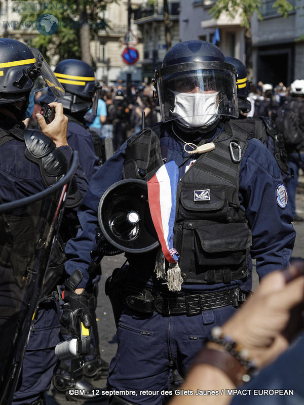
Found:
<path fill-rule="evenodd" d="M 72 149 L 61 146 L 59 150 L 69 161 Z M 39 167 L 24 156 L 24 142 L 12 139 L 0 148 L 0 197 L 3 203 L 14 201 L 46 188 Z M 79 168 L 75 180 L 84 195 L 87 180 Z M 29 403 L 48 391 L 54 368 L 57 365 L 54 347 L 59 343 L 59 308 L 54 301 L 41 304 L 36 313 L 34 329 L 30 334 L 23 361 L 14 404 Z"/>

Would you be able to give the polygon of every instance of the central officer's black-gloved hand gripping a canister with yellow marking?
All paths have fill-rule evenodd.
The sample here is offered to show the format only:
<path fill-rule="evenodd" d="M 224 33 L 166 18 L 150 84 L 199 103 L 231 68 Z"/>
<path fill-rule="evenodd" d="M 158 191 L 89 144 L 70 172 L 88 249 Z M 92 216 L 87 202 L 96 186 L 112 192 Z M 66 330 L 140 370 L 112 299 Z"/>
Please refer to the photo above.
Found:
<path fill-rule="evenodd" d="M 81 294 L 76 294 L 74 291 L 65 290 L 60 323 L 64 328 L 67 328 L 73 335 L 79 335 L 79 319 L 84 323 L 86 328 L 92 325 L 92 315 L 89 309 L 88 299 L 91 297 L 86 290 Z"/>

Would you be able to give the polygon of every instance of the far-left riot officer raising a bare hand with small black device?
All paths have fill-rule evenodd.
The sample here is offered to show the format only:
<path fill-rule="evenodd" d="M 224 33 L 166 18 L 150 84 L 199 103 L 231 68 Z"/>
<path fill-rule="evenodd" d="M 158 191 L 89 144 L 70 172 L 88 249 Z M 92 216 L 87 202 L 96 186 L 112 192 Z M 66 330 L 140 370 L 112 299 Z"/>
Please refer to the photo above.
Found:
<path fill-rule="evenodd" d="M 64 94 L 41 53 L 14 39 L 1 38 L 0 68 L 0 200 L 6 203 L 35 194 L 58 181 L 68 169 L 72 149 L 66 140 L 67 118 L 61 104 L 50 104 L 55 108 L 55 117 L 49 125 L 41 114 L 37 114 L 43 132 L 27 130 L 22 122 L 31 90 L 49 86 L 56 98 Z M 86 188 L 86 178 L 79 169 L 66 203 L 70 215 Z M 55 259 L 58 262 L 60 256 Z M 41 302 L 35 314 L 14 404 L 44 402 L 44 392 L 50 387 L 57 365 L 54 347 L 59 342 L 58 315 L 58 301 L 50 298 Z"/>

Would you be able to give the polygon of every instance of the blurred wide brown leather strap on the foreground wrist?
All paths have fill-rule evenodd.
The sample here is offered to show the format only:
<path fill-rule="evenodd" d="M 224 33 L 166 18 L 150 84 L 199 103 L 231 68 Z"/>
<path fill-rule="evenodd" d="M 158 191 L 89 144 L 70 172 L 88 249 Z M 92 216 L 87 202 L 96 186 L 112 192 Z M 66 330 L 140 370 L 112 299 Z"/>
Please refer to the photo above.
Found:
<path fill-rule="evenodd" d="M 193 366 L 203 363 L 223 371 L 235 386 L 243 384 L 243 377 L 248 374 L 241 362 L 228 351 L 203 348 L 196 355 Z"/>

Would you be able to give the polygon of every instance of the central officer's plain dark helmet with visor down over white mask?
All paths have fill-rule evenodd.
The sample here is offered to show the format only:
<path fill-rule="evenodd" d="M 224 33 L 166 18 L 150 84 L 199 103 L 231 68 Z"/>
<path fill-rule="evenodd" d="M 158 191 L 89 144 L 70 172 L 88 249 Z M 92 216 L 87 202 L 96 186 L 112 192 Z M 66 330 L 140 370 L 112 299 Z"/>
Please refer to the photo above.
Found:
<path fill-rule="evenodd" d="M 236 70 L 206 41 L 172 47 L 155 72 L 163 122 L 175 119 L 187 132 L 209 131 L 221 116 L 238 117 Z"/>

